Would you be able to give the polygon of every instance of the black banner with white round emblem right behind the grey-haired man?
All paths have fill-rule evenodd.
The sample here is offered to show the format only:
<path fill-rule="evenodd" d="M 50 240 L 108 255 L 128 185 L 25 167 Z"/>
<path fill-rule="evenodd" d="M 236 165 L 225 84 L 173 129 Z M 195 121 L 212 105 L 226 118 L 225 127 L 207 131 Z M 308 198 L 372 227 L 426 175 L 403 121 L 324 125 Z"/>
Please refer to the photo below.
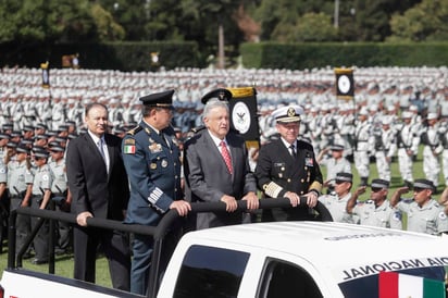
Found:
<path fill-rule="evenodd" d="M 253 87 L 227 88 L 232 92 L 229 101 L 231 127 L 239 132 L 247 142 L 259 147 L 260 128 L 258 123 L 257 90 Z"/>

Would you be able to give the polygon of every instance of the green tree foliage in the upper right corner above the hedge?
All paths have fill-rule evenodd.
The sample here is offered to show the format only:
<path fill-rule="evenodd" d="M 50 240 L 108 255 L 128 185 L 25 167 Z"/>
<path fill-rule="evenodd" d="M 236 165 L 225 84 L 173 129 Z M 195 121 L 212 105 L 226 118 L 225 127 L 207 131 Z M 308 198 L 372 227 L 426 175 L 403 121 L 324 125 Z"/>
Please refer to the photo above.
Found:
<path fill-rule="evenodd" d="M 422 3 L 395 14 L 390 20 L 389 41 L 434 41 L 448 39 L 448 1 L 423 0 Z"/>

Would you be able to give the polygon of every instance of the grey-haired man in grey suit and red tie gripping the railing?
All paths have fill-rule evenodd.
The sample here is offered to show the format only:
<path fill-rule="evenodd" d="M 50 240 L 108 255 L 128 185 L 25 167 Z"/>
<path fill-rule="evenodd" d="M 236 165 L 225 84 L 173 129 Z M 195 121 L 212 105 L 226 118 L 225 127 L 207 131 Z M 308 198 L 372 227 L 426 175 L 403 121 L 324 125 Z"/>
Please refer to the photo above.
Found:
<path fill-rule="evenodd" d="M 232 98 L 227 89 L 213 90 L 202 98 L 204 129 L 186 141 L 184 172 L 186 198 L 190 201 L 222 201 L 225 214 L 199 213 L 196 228 L 242 222 L 242 213 L 234 212 L 237 200 L 247 200 L 248 209 L 258 209 L 257 184 L 250 172 L 245 140 L 229 132 Z"/>

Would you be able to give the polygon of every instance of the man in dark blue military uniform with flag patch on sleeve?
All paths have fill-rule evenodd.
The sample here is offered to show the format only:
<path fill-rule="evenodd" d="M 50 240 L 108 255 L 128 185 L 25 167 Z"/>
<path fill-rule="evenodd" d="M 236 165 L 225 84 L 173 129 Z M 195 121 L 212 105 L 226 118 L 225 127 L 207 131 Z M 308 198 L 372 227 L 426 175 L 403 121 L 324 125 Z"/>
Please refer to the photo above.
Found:
<path fill-rule="evenodd" d="M 155 226 L 163 214 L 175 209 L 185 216 L 189 202 L 182 200 L 181 152 L 170 123 L 174 90 L 140 98 L 142 120 L 122 141 L 124 165 L 130 184 L 125 222 Z M 153 240 L 135 235 L 130 291 L 146 295 Z M 169 253 L 171 248 L 164 249 Z"/>

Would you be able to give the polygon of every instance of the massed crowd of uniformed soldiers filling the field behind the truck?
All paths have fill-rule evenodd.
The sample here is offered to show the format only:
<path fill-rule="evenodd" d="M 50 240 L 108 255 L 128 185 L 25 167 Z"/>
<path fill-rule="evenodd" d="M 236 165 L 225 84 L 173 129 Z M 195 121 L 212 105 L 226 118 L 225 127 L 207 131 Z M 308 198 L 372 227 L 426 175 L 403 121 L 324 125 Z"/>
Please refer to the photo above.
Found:
<path fill-rule="evenodd" d="M 390 162 L 398 158 L 400 176 L 406 186 L 412 186 L 413 162 L 423 145 L 426 178 L 437 187 L 443 174 L 447 186 L 448 69 L 365 67 L 354 69 L 354 77 L 356 98 L 345 101 L 335 96 L 331 67 L 179 69 L 157 73 L 51 70 L 47 88 L 41 86 L 40 70 L 2 69 L 0 202 L 9 195 L 11 204 L 36 201 L 35 207 L 46 208 L 52 200 L 62 211 L 67 210 L 64 150 L 71 138 L 85 132 L 86 103 L 104 103 L 111 133 L 123 137 L 141 117 L 141 95 L 176 89 L 173 126 L 182 140 L 192 127 L 201 125 L 200 97 L 204 90 L 247 86 L 257 90 L 262 144 L 276 135 L 272 111 L 300 104 L 304 109 L 300 137 L 314 146 L 316 154 L 331 146 L 341 146 L 345 157 L 352 158 L 361 185 L 369 184 L 372 159 L 378 177 L 390 183 Z M 27 199 L 15 201 L 23 196 Z M 30 227 L 29 222 L 24 224 Z M 61 250 L 69 246 L 67 228 L 60 226 Z M 35 243 L 35 250 L 39 246 Z"/>

